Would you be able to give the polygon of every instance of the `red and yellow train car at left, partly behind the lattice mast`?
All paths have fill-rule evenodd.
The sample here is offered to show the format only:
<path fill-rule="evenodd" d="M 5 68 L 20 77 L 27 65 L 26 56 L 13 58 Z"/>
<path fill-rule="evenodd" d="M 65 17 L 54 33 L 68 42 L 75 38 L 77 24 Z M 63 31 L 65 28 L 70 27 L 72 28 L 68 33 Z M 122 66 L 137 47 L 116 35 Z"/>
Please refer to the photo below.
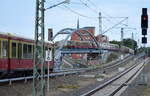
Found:
<path fill-rule="evenodd" d="M 45 45 L 48 45 L 45 43 Z M 33 69 L 34 40 L 0 33 L 0 73 L 28 73 Z M 47 63 L 47 62 L 46 62 Z M 53 62 L 50 62 L 53 69 Z"/>

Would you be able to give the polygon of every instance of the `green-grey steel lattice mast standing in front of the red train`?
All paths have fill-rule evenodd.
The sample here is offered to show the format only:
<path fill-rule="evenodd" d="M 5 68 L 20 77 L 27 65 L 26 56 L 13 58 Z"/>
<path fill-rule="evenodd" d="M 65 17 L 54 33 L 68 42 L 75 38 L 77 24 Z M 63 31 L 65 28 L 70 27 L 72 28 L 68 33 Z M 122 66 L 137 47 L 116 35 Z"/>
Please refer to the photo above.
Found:
<path fill-rule="evenodd" d="M 45 96 L 44 2 L 36 0 L 33 96 Z"/>

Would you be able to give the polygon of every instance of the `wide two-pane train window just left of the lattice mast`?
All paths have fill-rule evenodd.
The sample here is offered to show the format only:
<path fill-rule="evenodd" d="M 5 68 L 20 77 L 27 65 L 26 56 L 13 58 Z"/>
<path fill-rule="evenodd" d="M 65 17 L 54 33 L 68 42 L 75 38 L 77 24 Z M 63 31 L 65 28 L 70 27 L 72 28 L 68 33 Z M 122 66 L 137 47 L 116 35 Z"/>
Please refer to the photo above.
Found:
<path fill-rule="evenodd" d="M 23 45 L 23 58 L 32 59 L 32 45 Z"/>

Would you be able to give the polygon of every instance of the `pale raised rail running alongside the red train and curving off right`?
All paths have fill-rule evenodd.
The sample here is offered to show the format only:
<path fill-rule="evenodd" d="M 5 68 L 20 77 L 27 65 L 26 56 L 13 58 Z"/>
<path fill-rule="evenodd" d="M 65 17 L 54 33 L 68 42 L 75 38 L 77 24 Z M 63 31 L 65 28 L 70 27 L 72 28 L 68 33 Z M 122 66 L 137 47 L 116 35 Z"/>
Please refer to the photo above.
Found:
<path fill-rule="evenodd" d="M 106 64 L 105 66 L 101 66 L 101 67 L 103 67 L 103 69 L 106 70 L 106 69 L 112 68 L 114 66 L 118 66 L 120 64 L 123 64 L 124 62 L 126 62 L 126 61 L 128 61 L 129 59 L 132 59 L 132 58 L 133 58 L 133 56 L 127 56 L 123 61 L 116 60 L 116 61 L 112 62 L 111 64 Z M 101 67 L 99 67 L 99 68 L 101 68 Z M 80 68 L 80 69 L 61 70 L 57 73 L 51 73 L 49 75 L 45 75 L 45 78 L 48 77 L 48 76 L 49 77 L 56 77 L 56 76 L 79 74 L 79 73 L 82 73 L 82 72 L 92 71 L 92 70 L 96 70 L 96 69 L 99 69 L 99 68 Z M 31 80 L 31 79 L 33 79 L 33 76 L 7 78 L 7 79 L 1 79 L 0 84 L 9 83 L 11 85 L 12 82 L 15 82 L 15 81 L 25 81 L 25 82 L 27 82 L 28 80 Z"/>

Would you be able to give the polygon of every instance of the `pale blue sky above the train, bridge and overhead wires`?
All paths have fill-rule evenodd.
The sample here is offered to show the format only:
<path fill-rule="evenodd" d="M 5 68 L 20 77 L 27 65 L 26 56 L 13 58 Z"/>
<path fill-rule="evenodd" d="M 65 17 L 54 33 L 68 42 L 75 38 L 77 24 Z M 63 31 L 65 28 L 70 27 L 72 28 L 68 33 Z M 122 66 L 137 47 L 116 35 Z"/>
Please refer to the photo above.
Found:
<path fill-rule="evenodd" d="M 1 0 L 0 31 L 34 38 L 35 1 Z M 45 8 L 62 1 L 46 0 Z M 103 31 L 124 19 L 109 17 L 128 17 L 123 24 L 128 24 L 128 27 L 136 28 L 136 30 L 124 29 L 124 38 L 130 38 L 131 33 L 134 32 L 135 40 L 141 40 L 141 10 L 142 8 L 148 8 L 149 14 L 149 4 L 150 0 L 71 0 L 70 4 L 61 4 L 45 12 L 46 38 L 48 28 L 53 28 L 54 34 L 64 28 L 76 28 L 78 19 L 80 28 L 94 26 L 96 27 L 96 34 L 98 34 L 98 12 L 101 12 L 102 17 L 107 17 L 102 18 Z M 116 26 L 105 35 L 110 40 L 120 40 L 120 27 L 125 27 L 123 24 Z M 150 45 L 149 31 L 147 37 L 148 45 Z"/>

